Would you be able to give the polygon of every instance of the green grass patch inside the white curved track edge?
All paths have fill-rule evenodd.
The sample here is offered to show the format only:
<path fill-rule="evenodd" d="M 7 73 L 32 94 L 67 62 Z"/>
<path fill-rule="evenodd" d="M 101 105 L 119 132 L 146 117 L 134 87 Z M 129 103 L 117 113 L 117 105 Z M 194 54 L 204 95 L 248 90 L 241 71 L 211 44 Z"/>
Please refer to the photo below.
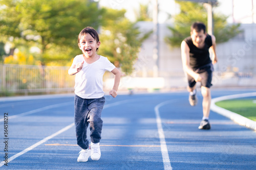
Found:
<path fill-rule="evenodd" d="M 226 100 L 216 103 L 217 106 L 238 113 L 244 117 L 256 121 L 256 99 Z"/>

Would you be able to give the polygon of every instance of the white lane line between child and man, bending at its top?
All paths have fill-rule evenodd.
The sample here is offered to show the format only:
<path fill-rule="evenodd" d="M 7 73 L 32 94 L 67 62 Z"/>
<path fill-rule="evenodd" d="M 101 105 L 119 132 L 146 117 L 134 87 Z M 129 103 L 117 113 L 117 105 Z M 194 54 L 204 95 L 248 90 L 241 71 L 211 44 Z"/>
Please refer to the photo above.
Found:
<path fill-rule="evenodd" d="M 159 139 L 160 139 L 160 145 L 161 145 L 161 152 L 162 152 L 162 157 L 163 157 L 163 165 L 165 170 L 171 170 L 173 169 L 172 166 L 170 165 L 170 159 L 169 159 L 169 154 L 167 150 L 167 145 L 165 142 L 165 136 L 162 128 L 162 120 L 159 114 L 159 108 L 162 107 L 163 105 L 166 105 L 167 103 L 173 102 L 174 100 L 171 101 L 166 101 L 163 103 L 158 104 L 155 107 L 155 113 L 156 113 L 156 120 L 157 120 L 157 129 L 158 129 L 158 134 L 159 134 Z"/>

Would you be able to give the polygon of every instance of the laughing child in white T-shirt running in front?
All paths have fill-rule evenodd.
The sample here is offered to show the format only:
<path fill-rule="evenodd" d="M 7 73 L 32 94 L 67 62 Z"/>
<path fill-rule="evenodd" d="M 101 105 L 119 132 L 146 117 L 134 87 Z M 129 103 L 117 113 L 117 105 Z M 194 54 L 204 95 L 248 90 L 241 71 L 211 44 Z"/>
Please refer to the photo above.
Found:
<path fill-rule="evenodd" d="M 102 85 L 103 74 L 106 70 L 115 75 L 113 89 L 109 94 L 115 98 L 120 82 L 120 71 L 108 60 L 97 54 L 100 46 L 99 36 L 92 27 L 84 28 L 78 36 L 78 46 L 82 51 L 77 55 L 69 69 L 69 75 L 75 77 L 75 130 L 77 144 L 81 148 L 78 162 L 99 160 L 100 139 L 102 130 L 101 111 L 105 98 Z M 87 128 L 91 130 L 91 149 L 87 139 Z"/>

